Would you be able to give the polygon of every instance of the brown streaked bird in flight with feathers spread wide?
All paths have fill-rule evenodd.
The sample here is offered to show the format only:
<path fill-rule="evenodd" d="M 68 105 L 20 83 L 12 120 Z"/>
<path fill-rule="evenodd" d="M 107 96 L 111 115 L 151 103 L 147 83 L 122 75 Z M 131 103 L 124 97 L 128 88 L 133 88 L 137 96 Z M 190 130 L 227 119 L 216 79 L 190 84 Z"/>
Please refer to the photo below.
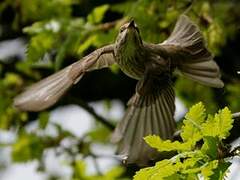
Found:
<path fill-rule="evenodd" d="M 135 94 L 128 101 L 125 115 L 111 138 L 117 144 L 117 154 L 126 164 L 143 166 L 158 158 L 159 153 L 145 143 L 145 136 L 173 139 L 176 122 L 171 77 L 175 70 L 206 86 L 224 86 L 220 69 L 198 25 L 182 14 L 162 43 L 143 41 L 133 19 L 124 23 L 113 44 L 96 49 L 31 85 L 14 98 L 13 105 L 22 111 L 42 111 L 55 104 L 84 74 L 113 64 L 138 80 Z"/>

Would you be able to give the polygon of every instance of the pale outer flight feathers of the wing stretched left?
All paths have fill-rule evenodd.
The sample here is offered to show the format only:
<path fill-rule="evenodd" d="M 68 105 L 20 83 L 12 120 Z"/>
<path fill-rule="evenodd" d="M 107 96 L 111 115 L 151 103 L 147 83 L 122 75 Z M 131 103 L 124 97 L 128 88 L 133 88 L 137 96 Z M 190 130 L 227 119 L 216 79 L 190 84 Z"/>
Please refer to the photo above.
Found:
<path fill-rule="evenodd" d="M 30 86 L 14 99 L 14 106 L 23 111 L 41 111 L 55 104 L 74 84 L 71 69 L 72 65 Z"/>

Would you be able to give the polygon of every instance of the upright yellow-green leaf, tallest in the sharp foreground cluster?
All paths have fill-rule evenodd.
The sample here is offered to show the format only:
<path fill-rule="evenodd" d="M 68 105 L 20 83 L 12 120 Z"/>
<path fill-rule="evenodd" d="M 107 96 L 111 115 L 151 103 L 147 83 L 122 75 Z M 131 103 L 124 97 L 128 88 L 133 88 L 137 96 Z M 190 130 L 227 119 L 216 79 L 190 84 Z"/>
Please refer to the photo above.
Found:
<path fill-rule="evenodd" d="M 183 120 L 181 137 L 184 142 L 191 141 L 192 146 L 202 138 L 201 124 L 205 121 L 204 105 L 200 102 L 192 106 Z"/>

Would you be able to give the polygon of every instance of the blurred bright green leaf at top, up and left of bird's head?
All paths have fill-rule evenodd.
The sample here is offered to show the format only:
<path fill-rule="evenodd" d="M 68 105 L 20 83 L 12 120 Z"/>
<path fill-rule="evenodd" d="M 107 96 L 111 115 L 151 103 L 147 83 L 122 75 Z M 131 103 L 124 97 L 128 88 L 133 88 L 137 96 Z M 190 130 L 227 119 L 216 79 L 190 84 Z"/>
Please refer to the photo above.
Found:
<path fill-rule="evenodd" d="M 109 5 L 105 4 L 102 6 L 98 6 L 96 8 L 94 8 L 94 10 L 92 11 L 91 14 L 88 15 L 87 20 L 88 22 L 91 23 L 100 23 L 104 17 L 104 14 L 107 12 L 107 10 L 109 9 Z"/>

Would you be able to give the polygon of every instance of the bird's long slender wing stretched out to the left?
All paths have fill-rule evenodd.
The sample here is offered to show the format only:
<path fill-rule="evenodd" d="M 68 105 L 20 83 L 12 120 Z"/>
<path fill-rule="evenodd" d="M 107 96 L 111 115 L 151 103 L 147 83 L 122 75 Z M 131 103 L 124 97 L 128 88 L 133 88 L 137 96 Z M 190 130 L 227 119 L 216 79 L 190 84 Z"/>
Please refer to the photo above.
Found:
<path fill-rule="evenodd" d="M 33 84 L 14 98 L 14 106 L 23 111 L 41 111 L 52 106 L 82 78 L 85 72 L 115 63 L 113 48 L 114 45 L 108 45 L 97 49 L 59 72 Z"/>

